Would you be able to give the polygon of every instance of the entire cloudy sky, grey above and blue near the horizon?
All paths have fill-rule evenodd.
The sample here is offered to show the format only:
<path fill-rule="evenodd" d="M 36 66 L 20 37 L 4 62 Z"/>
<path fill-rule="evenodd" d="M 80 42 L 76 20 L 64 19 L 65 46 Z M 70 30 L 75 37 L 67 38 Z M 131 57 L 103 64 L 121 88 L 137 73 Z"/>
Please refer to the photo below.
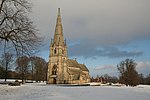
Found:
<path fill-rule="evenodd" d="M 40 56 L 48 61 L 57 9 L 61 8 L 68 54 L 90 69 L 91 76 L 117 75 L 126 58 L 150 73 L 150 0 L 32 0 L 31 18 L 45 37 Z"/>

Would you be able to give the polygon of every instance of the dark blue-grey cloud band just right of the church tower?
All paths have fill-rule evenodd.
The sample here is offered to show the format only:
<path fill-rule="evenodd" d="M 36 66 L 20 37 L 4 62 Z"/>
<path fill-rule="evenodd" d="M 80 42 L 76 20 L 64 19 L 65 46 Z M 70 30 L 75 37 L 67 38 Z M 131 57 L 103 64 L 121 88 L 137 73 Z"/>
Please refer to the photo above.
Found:
<path fill-rule="evenodd" d="M 92 42 L 85 41 L 69 46 L 69 56 L 81 56 L 84 58 L 108 57 L 108 58 L 122 58 L 122 57 L 137 57 L 143 54 L 142 51 L 126 51 L 120 50 L 114 46 L 99 46 L 92 44 Z"/>

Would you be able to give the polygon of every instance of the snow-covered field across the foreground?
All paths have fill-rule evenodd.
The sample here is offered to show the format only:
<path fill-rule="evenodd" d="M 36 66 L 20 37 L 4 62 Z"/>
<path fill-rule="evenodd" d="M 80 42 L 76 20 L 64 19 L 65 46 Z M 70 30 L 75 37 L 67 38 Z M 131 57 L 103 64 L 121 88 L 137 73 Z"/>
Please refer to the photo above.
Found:
<path fill-rule="evenodd" d="M 0 84 L 0 100 L 150 100 L 150 86 L 56 86 Z"/>

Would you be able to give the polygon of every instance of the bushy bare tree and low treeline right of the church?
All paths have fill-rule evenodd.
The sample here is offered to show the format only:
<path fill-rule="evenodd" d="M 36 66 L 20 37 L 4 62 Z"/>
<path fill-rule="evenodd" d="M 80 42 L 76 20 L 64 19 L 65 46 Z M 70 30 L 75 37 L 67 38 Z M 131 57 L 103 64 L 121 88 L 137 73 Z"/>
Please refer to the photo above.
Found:
<path fill-rule="evenodd" d="M 126 86 L 136 86 L 139 84 L 150 85 L 150 74 L 143 76 L 143 74 L 138 74 L 136 71 L 137 63 L 132 59 L 125 59 L 117 65 L 119 71 L 119 77 L 102 75 L 96 78 L 91 78 L 92 82 L 102 82 L 102 83 L 121 83 Z"/>

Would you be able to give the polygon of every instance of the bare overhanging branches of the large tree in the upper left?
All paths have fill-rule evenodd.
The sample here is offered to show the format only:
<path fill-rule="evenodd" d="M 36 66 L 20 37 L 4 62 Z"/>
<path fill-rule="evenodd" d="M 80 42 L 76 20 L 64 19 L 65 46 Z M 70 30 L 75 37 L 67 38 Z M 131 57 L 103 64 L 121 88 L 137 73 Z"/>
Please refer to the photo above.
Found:
<path fill-rule="evenodd" d="M 28 0 L 0 0 L 0 43 L 10 43 L 17 54 L 33 53 L 41 42 L 30 10 Z"/>

